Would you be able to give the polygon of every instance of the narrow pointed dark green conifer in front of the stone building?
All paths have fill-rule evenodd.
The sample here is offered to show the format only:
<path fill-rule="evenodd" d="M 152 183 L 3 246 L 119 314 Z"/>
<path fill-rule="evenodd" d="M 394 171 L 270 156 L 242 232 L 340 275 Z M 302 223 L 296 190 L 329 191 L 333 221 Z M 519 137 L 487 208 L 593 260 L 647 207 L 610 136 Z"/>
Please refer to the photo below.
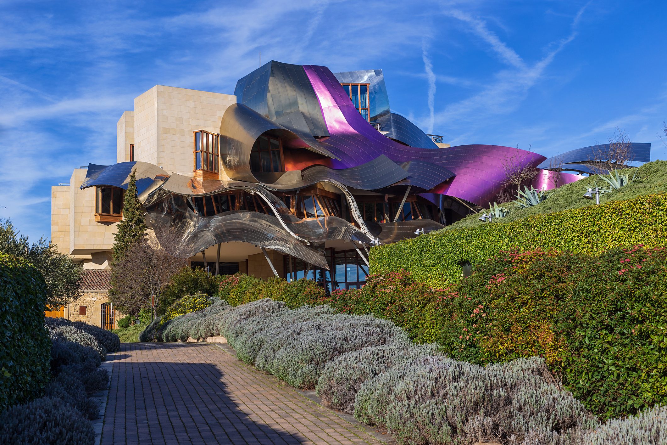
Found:
<path fill-rule="evenodd" d="M 143 206 L 137 197 L 136 170 L 129 175 L 129 183 L 123 200 L 123 221 L 118 224 L 113 236 L 113 262 L 125 257 L 125 252 L 132 244 L 145 236 L 146 223 L 143 219 Z"/>

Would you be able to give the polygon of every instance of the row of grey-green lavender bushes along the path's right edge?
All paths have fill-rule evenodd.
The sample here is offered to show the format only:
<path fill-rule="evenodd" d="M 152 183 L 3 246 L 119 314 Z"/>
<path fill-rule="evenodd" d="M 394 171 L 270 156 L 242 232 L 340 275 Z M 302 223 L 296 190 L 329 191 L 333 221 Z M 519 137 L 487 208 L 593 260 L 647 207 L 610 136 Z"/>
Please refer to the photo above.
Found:
<path fill-rule="evenodd" d="M 639 444 L 662 434 L 667 416 L 655 410 L 600 426 L 543 358 L 486 367 L 459 362 L 436 345 L 412 344 L 388 320 L 329 306 L 290 310 L 284 302 L 260 300 L 230 308 L 218 301 L 175 318 L 167 329 L 181 340 L 223 335 L 244 362 L 296 388 L 316 387 L 327 406 L 354 412 L 402 444 L 580 444 L 600 438 Z M 612 436 L 616 430 L 623 431 L 622 442 Z"/>

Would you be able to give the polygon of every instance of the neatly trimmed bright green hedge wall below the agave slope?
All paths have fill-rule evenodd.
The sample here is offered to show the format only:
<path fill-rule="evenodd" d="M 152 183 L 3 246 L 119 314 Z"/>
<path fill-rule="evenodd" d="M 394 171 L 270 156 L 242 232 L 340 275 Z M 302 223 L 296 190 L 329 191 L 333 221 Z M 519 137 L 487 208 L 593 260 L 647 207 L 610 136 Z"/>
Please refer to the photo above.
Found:
<path fill-rule="evenodd" d="M 589 205 L 483 226 L 434 232 L 370 251 L 370 273 L 407 270 L 417 282 L 446 286 L 503 250 L 600 254 L 610 248 L 667 245 L 667 193 Z"/>

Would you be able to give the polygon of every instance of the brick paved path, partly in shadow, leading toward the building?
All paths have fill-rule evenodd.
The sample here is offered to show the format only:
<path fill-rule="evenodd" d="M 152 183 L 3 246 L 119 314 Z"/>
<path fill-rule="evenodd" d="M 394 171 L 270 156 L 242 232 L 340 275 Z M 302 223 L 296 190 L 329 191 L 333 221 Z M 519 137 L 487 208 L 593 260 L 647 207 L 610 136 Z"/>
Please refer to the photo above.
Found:
<path fill-rule="evenodd" d="M 101 444 L 380 444 L 233 350 L 130 343 L 113 360 Z"/>

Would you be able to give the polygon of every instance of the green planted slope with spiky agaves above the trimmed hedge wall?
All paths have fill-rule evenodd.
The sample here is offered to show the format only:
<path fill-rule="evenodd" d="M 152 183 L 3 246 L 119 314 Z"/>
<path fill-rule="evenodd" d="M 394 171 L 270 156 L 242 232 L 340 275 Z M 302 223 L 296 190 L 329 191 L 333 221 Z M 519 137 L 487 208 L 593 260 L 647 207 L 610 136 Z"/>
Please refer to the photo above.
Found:
<path fill-rule="evenodd" d="M 623 199 L 632 199 L 640 195 L 650 195 L 652 193 L 659 193 L 667 191 L 667 161 L 653 161 L 646 163 L 638 168 L 626 169 L 623 173 L 628 173 L 632 177 L 637 172 L 638 178 L 626 185 L 622 189 L 614 193 L 603 193 L 600 195 L 600 203 L 608 201 L 622 201 Z M 510 211 L 508 215 L 502 219 L 496 219 L 498 223 L 506 223 L 514 221 L 539 213 L 552 213 L 554 211 L 561 211 L 567 209 L 577 209 L 579 207 L 586 207 L 586 205 L 593 205 L 595 201 L 584 198 L 585 187 L 588 183 L 593 183 L 594 177 L 585 178 L 568 185 L 551 191 L 546 201 L 528 209 L 520 209 L 512 203 L 504 204 L 504 207 Z M 602 179 L 597 180 L 598 186 L 606 185 Z M 469 215 L 456 223 L 442 229 L 463 229 L 484 224 L 479 220 L 479 213 Z"/>

